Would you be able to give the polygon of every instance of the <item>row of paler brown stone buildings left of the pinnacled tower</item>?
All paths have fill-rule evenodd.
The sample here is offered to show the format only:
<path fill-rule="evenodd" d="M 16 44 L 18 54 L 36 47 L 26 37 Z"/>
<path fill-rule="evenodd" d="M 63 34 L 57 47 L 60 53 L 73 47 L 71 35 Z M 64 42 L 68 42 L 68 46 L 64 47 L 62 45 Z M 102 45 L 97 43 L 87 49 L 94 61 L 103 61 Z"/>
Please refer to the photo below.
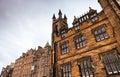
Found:
<path fill-rule="evenodd" d="M 12 77 L 50 77 L 51 46 L 30 49 L 15 61 Z"/>

